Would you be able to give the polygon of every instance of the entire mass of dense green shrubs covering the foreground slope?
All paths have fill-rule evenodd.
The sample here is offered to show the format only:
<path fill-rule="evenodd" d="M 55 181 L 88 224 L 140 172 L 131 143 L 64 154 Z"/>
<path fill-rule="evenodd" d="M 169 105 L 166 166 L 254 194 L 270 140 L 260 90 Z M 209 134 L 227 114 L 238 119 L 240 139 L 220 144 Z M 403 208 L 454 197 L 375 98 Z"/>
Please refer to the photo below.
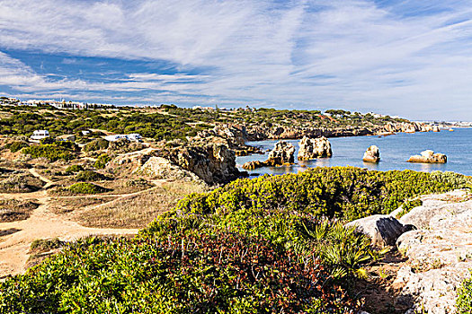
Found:
<path fill-rule="evenodd" d="M 0 283 L 2 313 L 354 313 L 379 252 L 343 222 L 462 188 L 450 173 L 316 168 L 185 197 L 132 240 L 79 240 Z"/>

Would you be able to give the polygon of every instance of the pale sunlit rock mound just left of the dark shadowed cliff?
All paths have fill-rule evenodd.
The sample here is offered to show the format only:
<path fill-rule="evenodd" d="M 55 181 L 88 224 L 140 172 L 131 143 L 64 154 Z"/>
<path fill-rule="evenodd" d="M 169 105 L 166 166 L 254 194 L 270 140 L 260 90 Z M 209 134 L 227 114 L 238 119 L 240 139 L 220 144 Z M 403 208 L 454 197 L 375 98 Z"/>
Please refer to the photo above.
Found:
<path fill-rule="evenodd" d="M 184 170 L 163 157 L 150 157 L 142 166 L 133 171 L 150 179 L 178 179 L 185 181 L 202 180 L 193 172 Z"/>

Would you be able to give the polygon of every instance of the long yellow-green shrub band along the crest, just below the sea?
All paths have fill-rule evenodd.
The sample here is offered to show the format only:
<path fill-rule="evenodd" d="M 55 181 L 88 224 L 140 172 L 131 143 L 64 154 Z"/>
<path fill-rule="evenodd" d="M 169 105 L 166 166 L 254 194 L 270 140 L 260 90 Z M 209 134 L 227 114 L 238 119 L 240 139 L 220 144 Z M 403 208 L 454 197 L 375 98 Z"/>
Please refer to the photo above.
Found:
<path fill-rule="evenodd" d="M 388 214 L 413 196 L 464 188 L 465 183 L 459 179 L 466 177 L 457 177 L 451 181 L 412 170 L 314 168 L 298 174 L 238 179 L 208 194 L 187 196 L 176 209 L 211 214 L 281 207 L 318 217 L 354 220 Z"/>

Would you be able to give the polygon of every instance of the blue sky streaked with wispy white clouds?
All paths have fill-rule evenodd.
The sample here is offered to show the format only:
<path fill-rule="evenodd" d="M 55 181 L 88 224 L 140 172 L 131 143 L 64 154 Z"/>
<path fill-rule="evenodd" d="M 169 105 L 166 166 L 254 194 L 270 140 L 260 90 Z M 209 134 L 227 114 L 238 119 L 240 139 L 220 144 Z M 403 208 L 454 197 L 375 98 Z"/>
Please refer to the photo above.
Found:
<path fill-rule="evenodd" d="M 0 95 L 472 120 L 470 0 L 0 0 Z"/>

